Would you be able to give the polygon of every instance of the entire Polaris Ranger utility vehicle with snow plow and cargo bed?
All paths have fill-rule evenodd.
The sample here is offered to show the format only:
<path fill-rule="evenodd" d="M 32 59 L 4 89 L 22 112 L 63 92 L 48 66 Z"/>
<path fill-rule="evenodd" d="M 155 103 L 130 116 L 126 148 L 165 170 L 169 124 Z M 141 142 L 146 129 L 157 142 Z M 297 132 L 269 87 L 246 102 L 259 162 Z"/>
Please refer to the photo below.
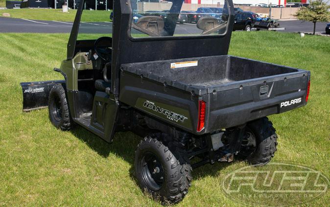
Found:
<path fill-rule="evenodd" d="M 138 21 L 139 2 L 114 0 L 113 23 L 81 22 L 84 2 L 67 59 L 54 69 L 65 80 L 22 83 L 24 111 L 48 106 L 54 126 L 80 125 L 107 142 L 118 131 L 143 137 L 135 152 L 138 184 L 163 202 L 184 198 L 192 168 L 271 160 L 277 135 L 266 116 L 305 106 L 310 72 L 228 55 L 232 0 L 221 1 L 220 20 L 194 25 L 176 24 L 183 0 L 165 4 L 165 19 Z"/>

